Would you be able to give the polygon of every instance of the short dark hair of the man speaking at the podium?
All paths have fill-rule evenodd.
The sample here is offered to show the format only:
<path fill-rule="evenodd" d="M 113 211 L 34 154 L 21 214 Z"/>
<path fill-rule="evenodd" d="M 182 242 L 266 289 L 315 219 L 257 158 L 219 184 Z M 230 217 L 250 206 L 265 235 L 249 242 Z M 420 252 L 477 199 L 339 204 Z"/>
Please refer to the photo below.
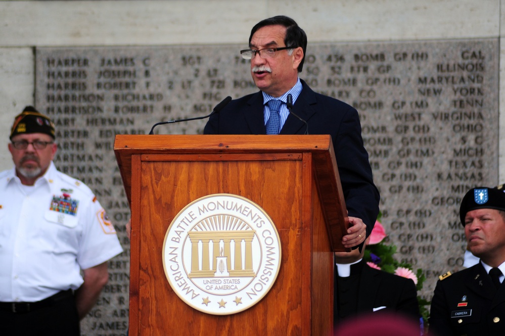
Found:
<path fill-rule="evenodd" d="M 276 25 L 286 27 L 286 36 L 284 37 L 284 43 L 286 44 L 286 46 L 293 48 L 297 48 L 299 46 L 302 47 L 303 58 L 300 64 L 298 65 L 298 72 L 302 72 L 303 62 L 305 61 L 305 52 L 307 51 L 307 35 L 292 18 L 289 18 L 284 15 L 279 15 L 258 22 L 251 29 L 251 35 L 249 35 L 249 44 L 251 43 L 252 35 L 254 35 L 256 30 L 266 26 L 276 26 Z"/>

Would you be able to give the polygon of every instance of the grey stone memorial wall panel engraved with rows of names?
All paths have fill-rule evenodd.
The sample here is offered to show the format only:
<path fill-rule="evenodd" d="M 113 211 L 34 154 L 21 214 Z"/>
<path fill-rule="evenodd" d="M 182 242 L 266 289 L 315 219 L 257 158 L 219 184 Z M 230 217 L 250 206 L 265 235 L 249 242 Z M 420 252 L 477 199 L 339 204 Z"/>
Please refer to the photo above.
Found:
<path fill-rule="evenodd" d="M 56 166 L 95 191 L 124 253 L 82 325 L 124 335 L 128 318 L 128 202 L 113 153 L 116 134 L 209 114 L 227 95 L 255 92 L 244 45 L 36 49 L 36 107 L 57 128 Z M 420 295 L 463 264 L 458 206 L 498 177 L 498 40 L 309 44 L 303 78 L 354 106 L 396 257 L 423 268 Z M 157 126 L 199 134 L 206 120 Z M 338 151 L 338 148 L 336 149 Z M 168 285 L 160 279 L 160 285 Z"/>

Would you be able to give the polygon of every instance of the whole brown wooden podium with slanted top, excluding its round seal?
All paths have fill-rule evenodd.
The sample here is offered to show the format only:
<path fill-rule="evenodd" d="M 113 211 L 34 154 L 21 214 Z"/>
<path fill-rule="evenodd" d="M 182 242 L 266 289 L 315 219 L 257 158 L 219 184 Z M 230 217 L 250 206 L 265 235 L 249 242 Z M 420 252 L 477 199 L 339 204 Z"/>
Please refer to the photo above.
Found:
<path fill-rule="evenodd" d="M 317 335 L 333 330 L 333 251 L 348 227 L 329 135 L 116 135 L 131 208 L 130 335 Z M 277 227 L 278 277 L 256 305 L 212 315 L 183 302 L 165 276 L 166 231 L 212 194 L 258 204 Z"/>

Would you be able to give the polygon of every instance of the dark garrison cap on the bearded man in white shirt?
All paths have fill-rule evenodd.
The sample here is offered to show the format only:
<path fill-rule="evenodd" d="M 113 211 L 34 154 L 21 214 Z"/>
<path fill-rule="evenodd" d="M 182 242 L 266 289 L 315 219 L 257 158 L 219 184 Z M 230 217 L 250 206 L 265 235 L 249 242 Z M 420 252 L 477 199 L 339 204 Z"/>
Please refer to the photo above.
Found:
<path fill-rule="evenodd" d="M 54 139 L 55 125 L 49 117 L 35 110 L 33 106 L 27 106 L 23 112 L 14 118 L 9 138 L 12 140 L 15 135 L 27 133 L 45 133 L 51 135 Z"/>

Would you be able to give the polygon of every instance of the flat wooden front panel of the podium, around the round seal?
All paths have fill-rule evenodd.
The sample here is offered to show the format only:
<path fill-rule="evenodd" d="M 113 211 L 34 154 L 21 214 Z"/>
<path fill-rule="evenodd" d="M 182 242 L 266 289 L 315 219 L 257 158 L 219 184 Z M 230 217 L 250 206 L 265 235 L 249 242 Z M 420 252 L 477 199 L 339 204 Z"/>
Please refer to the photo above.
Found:
<path fill-rule="evenodd" d="M 139 334 L 175 330 L 182 334 L 185 330 L 187 334 L 218 335 L 224 330 L 241 335 L 301 334 L 302 323 L 291 321 L 303 321 L 304 314 L 310 325 L 312 303 L 302 301 L 302 288 L 307 287 L 302 274 L 311 267 L 311 260 L 302 258 L 302 247 L 312 244 L 306 232 L 310 225 L 302 225 L 306 164 L 301 154 L 142 156 Z M 305 191 L 312 195 L 314 190 Z M 239 195 L 255 202 L 271 217 L 281 238 L 282 266 L 270 292 L 255 306 L 233 315 L 210 315 L 187 305 L 171 289 L 162 266 L 163 240 L 173 218 L 189 203 L 212 194 Z"/>

